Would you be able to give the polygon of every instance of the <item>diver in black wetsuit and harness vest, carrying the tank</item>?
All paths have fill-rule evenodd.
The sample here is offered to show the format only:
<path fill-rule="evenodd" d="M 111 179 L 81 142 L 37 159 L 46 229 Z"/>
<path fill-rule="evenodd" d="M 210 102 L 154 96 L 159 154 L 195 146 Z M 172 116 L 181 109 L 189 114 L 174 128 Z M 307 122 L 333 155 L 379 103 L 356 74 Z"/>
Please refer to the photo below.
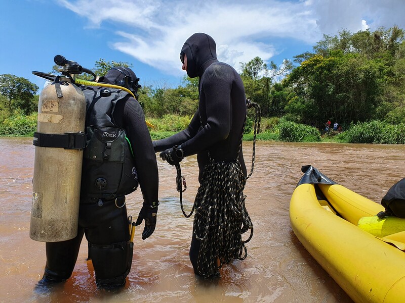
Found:
<path fill-rule="evenodd" d="M 99 79 L 126 87 L 135 96 L 138 81 L 126 67 L 112 68 Z M 133 254 L 125 195 L 139 183 L 144 202 L 136 225 L 145 220 L 142 239 L 146 239 L 155 229 L 159 205 L 156 156 L 143 110 L 131 94 L 102 86 L 81 89 L 87 103 L 87 139 L 78 233 L 71 240 L 46 243 L 47 263 L 39 284 L 53 284 L 71 276 L 86 234 L 96 283 L 120 286 L 126 282 Z"/>

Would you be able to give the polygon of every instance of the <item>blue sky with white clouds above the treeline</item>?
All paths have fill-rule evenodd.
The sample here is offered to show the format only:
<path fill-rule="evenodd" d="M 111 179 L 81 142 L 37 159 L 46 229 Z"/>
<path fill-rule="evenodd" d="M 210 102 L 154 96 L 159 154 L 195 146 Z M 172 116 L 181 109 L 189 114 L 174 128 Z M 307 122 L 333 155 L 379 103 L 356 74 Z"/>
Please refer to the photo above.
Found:
<path fill-rule="evenodd" d="M 44 86 L 55 55 L 92 68 L 96 60 L 133 64 L 142 85 L 177 86 L 179 60 L 195 32 L 211 35 L 220 61 L 265 62 L 312 51 L 322 34 L 397 25 L 405 0 L 2 0 L 0 74 Z"/>

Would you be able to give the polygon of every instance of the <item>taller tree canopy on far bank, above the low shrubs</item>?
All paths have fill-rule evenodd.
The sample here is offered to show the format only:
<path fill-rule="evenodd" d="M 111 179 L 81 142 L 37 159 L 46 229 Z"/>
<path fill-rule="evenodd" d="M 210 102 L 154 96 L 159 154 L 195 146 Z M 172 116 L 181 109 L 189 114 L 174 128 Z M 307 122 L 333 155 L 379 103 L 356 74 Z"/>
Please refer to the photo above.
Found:
<path fill-rule="evenodd" d="M 264 117 L 317 127 L 327 120 L 343 126 L 376 119 L 405 123 L 404 34 L 397 26 L 356 33 L 341 30 L 323 35 L 312 52 L 278 66 L 259 57 L 241 62 L 246 95 L 260 105 Z M 101 76 L 116 66 L 132 64 L 100 59 L 92 71 Z M 184 76 L 175 88 L 145 85 L 138 91 L 139 102 L 149 117 L 191 116 L 198 107 L 198 81 Z M 0 109 L 30 112 L 37 89 L 24 78 L 0 75 Z"/>

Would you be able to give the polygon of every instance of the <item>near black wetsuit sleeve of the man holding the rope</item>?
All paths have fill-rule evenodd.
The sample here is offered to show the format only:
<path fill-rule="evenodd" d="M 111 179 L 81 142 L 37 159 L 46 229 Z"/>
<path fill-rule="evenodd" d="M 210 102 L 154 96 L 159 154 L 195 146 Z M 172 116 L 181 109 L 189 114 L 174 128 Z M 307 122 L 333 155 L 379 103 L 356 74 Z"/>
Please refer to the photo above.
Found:
<path fill-rule="evenodd" d="M 205 94 L 207 124 L 181 144 L 185 156 L 197 154 L 228 137 L 231 127 L 231 89 L 233 72 L 221 64 L 213 64 L 204 74 L 201 91 Z"/>

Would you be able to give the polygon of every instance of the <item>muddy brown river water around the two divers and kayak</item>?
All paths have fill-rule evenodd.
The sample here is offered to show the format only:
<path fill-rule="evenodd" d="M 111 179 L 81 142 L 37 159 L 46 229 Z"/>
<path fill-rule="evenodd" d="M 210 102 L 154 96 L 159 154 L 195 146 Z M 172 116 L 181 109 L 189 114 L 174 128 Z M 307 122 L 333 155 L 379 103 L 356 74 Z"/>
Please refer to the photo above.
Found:
<path fill-rule="evenodd" d="M 244 143 L 247 166 L 251 148 L 252 142 Z M 125 287 L 97 288 L 84 240 L 72 277 L 44 288 L 36 282 L 44 271 L 45 243 L 29 238 L 34 146 L 30 138 L 0 138 L 0 150 L 1 302 L 352 302 L 291 229 L 289 203 L 302 176 L 300 168 L 312 164 L 378 202 L 405 171 L 403 145 L 258 142 L 255 171 L 245 188 L 254 225 L 248 257 L 226 265 L 220 279 L 207 281 L 194 276 L 188 259 L 192 218 L 181 212 L 176 170 L 159 159 L 156 230 L 145 241 L 141 228 L 136 230 Z M 189 210 L 198 186 L 196 158 L 181 164 Z M 137 190 L 127 199 L 128 212 L 135 218 L 141 197 Z"/>

